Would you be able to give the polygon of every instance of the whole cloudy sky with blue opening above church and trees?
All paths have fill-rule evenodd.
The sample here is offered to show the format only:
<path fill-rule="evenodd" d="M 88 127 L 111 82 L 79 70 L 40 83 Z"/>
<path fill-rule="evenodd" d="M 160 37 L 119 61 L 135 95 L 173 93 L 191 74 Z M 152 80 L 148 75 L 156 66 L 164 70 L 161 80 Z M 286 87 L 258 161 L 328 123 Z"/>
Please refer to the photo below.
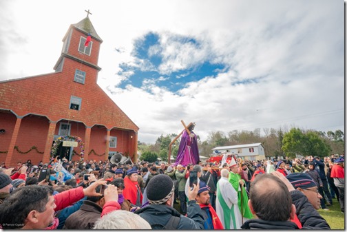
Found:
<path fill-rule="evenodd" d="M 344 131 L 344 1 L 0 1 L 0 81 L 54 72 L 90 10 L 98 85 L 138 140 L 300 127 Z M 256 142 L 256 141 L 255 141 Z"/>

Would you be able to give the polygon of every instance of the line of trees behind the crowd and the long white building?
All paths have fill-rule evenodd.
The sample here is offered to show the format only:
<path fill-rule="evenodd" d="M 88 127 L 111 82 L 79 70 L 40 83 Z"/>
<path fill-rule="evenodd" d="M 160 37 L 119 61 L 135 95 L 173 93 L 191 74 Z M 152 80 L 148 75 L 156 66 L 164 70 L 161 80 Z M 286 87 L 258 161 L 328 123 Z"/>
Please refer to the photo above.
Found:
<path fill-rule="evenodd" d="M 200 156 L 209 157 L 214 147 L 243 145 L 250 143 L 262 143 L 265 156 L 329 156 L 330 154 L 344 154 L 344 132 L 315 131 L 313 129 L 263 128 L 263 134 L 259 128 L 253 131 L 229 131 L 226 135 L 222 131 L 211 131 L 207 140 L 202 141 L 198 137 Z M 198 130 L 196 130 L 198 134 Z M 138 141 L 140 160 L 155 162 L 157 158 L 167 161 L 169 144 L 177 134 L 163 134 L 157 138 L 156 143 L 146 144 Z M 176 159 L 180 138 L 172 144 L 171 156 Z"/>

